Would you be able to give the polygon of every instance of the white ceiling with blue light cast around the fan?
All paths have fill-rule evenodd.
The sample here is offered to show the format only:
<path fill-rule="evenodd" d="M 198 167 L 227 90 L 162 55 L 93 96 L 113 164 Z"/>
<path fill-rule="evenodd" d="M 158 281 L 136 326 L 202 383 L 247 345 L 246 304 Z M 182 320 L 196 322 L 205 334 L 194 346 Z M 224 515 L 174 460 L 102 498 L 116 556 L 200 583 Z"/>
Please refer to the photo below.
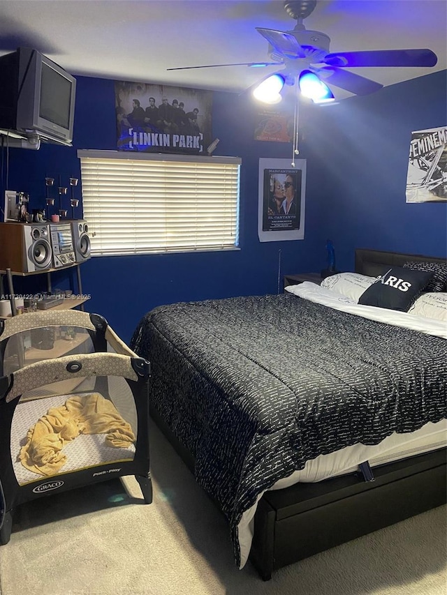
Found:
<path fill-rule="evenodd" d="M 255 27 L 295 27 L 283 0 L 0 0 L 0 23 L 0 54 L 26 45 L 73 75 L 225 91 L 243 91 L 268 70 L 166 68 L 268 60 Z M 446 0 L 322 0 L 304 24 L 330 36 L 331 52 L 437 54 L 433 68 L 351 69 L 383 85 L 447 68 Z"/>

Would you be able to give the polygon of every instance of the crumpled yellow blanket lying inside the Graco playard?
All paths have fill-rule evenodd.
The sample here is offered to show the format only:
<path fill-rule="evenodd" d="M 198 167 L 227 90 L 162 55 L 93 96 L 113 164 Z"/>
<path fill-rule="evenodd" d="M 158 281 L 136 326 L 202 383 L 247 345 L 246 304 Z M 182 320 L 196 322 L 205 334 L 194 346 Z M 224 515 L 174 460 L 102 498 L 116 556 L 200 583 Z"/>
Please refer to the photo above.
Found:
<path fill-rule="evenodd" d="M 52 476 L 66 463 L 64 446 L 80 434 L 107 434 L 105 443 L 126 448 L 135 442 L 131 425 L 119 415 L 115 405 L 99 393 L 73 396 L 60 407 L 51 407 L 29 428 L 27 444 L 18 460 L 34 473 Z"/>

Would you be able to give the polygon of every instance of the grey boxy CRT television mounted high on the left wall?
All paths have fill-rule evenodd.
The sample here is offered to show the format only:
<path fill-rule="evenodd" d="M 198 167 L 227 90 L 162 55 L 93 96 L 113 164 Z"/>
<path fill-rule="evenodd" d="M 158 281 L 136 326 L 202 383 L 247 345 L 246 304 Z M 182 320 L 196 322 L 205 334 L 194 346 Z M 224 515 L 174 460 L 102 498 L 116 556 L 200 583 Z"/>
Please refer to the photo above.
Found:
<path fill-rule="evenodd" d="M 0 56 L 0 130 L 70 145 L 76 80 L 37 50 Z"/>

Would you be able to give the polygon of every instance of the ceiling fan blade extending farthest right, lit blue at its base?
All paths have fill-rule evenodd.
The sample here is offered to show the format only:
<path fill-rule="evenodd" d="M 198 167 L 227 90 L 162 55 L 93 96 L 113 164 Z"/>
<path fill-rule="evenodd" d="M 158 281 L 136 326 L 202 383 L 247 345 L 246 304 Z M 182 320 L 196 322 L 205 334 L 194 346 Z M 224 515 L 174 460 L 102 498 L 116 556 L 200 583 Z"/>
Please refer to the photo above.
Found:
<path fill-rule="evenodd" d="M 432 50 L 372 50 L 327 54 L 330 66 L 434 66 L 438 61 Z"/>

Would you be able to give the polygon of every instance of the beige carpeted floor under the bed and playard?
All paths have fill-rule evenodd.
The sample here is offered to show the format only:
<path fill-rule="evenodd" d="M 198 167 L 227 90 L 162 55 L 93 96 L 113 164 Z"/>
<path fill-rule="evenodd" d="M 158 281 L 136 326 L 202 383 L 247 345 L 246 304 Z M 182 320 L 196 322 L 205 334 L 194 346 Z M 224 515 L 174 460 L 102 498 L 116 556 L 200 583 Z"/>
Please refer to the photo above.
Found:
<path fill-rule="evenodd" d="M 282 568 L 239 571 L 228 525 L 152 424 L 154 502 L 133 478 L 17 508 L 1 595 L 446 595 L 447 509 Z"/>

